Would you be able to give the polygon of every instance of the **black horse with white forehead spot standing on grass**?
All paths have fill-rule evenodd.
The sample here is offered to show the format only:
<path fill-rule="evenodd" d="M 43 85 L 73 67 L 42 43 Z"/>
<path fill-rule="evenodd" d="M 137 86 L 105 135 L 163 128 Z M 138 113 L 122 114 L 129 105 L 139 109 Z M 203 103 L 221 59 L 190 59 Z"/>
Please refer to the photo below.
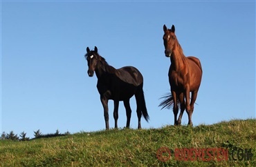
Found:
<path fill-rule="evenodd" d="M 123 101 L 125 105 L 127 124 L 129 128 L 131 120 L 130 98 L 135 95 L 137 104 L 138 128 L 141 128 L 141 115 L 148 121 L 149 115 L 145 104 L 143 93 L 143 75 L 134 67 L 125 66 L 120 69 L 109 66 L 107 61 L 98 54 L 98 48 L 94 50 L 86 48 L 86 59 L 88 63 L 88 75 L 93 77 L 95 71 L 98 78 L 97 88 L 100 93 L 100 101 L 104 108 L 104 119 L 106 129 L 109 129 L 109 108 L 108 101 L 112 99 L 114 102 L 113 117 L 115 119 L 115 128 L 118 128 L 118 106 L 119 101 Z"/>

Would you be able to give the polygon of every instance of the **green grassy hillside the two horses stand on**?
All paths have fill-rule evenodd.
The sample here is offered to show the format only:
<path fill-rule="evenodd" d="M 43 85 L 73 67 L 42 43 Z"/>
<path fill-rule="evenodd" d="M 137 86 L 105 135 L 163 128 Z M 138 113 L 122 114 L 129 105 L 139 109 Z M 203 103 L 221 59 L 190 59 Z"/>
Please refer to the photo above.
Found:
<path fill-rule="evenodd" d="M 3 140 L 0 166 L 256 166 L 256 119 Z"/>

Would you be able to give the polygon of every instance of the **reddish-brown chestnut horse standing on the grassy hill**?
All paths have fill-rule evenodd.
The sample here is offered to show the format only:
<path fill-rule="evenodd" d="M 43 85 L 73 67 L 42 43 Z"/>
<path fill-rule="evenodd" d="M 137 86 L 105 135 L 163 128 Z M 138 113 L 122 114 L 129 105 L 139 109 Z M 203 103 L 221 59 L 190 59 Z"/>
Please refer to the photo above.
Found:
<path fill-rule="evenodd" d="M 184 110 L 188 113 L 188 125 L 192 126 L 192 113 L 197 92 L 201 84 L 203 70 L 199 59 L 196 57 L 185 57 L 181 45 L 175 35 L 175 27 L 171 29 L 163 26 L 163 43 L 165 46 L 165 56 L 170 57 L 171 65 L 169 68 L 169 83 L 172 95 L 167 95 L 159 106 L 169 107 L 173 105 L 174 125 L 181 124 L 181 118 Z M 191 102 L 190 102 L 191 92 Z M 185 97 L 185 98 L 184 98 Z M 180 104 L 181 113 L 177 120 Z"/>

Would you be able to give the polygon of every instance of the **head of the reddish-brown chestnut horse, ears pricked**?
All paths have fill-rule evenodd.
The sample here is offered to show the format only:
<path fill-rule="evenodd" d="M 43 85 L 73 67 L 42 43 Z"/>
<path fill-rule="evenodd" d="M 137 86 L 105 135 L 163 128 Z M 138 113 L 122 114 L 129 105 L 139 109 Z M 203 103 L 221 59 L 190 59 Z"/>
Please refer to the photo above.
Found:
<path fill-rule="evenodd" d="M 174 46 L 176 43 L 176 35 L 175 35 L 175 27 L 172 25 L 171 29 L 167 29 L 165 25 L 163 25 L 163 31 L 165 35 L 163 35 L 163 44 L 165 45 L 165 56 L 171 57 L 172 51 L 174 50 Z"/>

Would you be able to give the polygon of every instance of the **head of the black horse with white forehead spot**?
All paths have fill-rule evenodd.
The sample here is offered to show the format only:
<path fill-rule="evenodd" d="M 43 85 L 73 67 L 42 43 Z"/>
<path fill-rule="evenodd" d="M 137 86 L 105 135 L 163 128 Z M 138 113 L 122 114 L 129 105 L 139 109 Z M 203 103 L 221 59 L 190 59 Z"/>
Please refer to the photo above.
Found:
<path fill-rule="evenodd" d="M 97 66 L 99 55 L 98 55 L 98 48 L 95 46 L 94 50 L 90 50 L 89 47 L 86 48 L 86 55 L 84 56 L 87 60 L 88 64 L 88 75 L 89 77 L 93 77 L 94 70 Z"/>

